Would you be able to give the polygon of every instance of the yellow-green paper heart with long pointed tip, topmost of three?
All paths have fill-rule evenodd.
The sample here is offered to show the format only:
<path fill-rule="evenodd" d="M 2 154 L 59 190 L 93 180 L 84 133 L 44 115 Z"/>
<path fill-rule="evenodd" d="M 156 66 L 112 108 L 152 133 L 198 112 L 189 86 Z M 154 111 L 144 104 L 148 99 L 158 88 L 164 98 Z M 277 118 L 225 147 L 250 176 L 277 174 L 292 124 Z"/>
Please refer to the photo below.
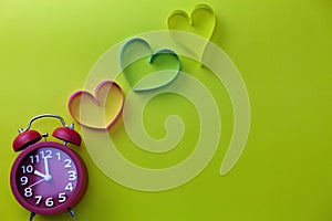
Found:
<path fill-rule="evenodd" d="M 216 29 L 216 20 L 212 8 L 207 4 L 198 4 L 191 12 L 191 17 L 181 10 L 174 11 L 167 20 L 167 25 L 169 30 L 190 32 L 210 40 Z M 176 32 L 173 32 L 172 35 L 187 51 L 197 56 L 198 61 L 203 61 L 207 44 L 190 42 Z"/>

